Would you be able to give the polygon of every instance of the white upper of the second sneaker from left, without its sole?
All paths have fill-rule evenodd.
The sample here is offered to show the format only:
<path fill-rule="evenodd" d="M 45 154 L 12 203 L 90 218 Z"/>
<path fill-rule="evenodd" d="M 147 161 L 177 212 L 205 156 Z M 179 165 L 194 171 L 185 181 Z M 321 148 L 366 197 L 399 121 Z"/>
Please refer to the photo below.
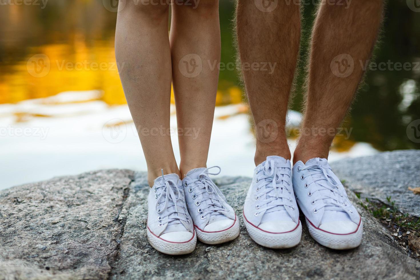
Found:
<path fill-rule="evenodd" d="M 218 168 L 219 171 L 210 173 L 211 168 Z M 234 209 L 209 177 L 219 173 L 218 166 L 195 168 L 182 179 L 188 211 L 194 225 L 202 231 L 224 230 L 236 220 Z"/>

